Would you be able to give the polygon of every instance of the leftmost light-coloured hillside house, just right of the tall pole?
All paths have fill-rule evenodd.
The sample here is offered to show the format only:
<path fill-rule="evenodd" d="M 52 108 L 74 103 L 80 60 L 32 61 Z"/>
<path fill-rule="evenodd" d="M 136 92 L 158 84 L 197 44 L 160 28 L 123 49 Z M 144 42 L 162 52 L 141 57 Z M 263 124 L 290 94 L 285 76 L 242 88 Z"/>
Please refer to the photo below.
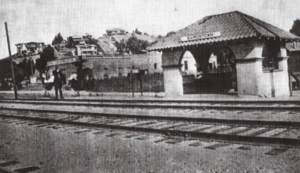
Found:
<path fill-rule="evenodd" d="M 16 46 L 17 56 L 38 54 L 45 48 L 43 42 L 18 43 Z"/>

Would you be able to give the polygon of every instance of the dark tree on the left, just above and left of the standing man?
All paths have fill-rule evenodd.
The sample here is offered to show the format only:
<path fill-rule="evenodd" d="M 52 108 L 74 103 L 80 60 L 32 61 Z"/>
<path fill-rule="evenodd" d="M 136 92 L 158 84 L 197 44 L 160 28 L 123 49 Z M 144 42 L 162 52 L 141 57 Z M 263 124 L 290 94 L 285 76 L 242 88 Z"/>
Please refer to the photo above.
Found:
<path fill-rule="evenodd" d="M 36 60 L 36 69 L 43 73 L 46 70 L 47 62 L 54 60 L 54 49 L 50 45 L 43 49 L 43 52 L 40 54 L 40 59 Z"/>

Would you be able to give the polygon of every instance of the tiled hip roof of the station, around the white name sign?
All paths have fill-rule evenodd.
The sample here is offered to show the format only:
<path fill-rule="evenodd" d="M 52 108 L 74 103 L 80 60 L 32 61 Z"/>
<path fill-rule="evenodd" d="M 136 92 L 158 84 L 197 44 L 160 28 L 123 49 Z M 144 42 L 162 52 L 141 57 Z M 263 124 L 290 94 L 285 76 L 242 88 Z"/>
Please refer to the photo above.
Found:
<path fill-rule="evenodd" d="M 219 33 L 215 37 L 203 37 L 193 41 L 181 41 L 181 37 L 195 36 L 207 33 Z M 196 44 L 206 44 L 237 40 L 250 37 L 272 37 L 289 40 L 300 40 L 294 34 L 279 29 L 259 19 L 239 11 L 204 17 L 203 19 L 179 30 L 176 34 L 164 37 L 148 50 L 161 50 L 184 47 Z"/>

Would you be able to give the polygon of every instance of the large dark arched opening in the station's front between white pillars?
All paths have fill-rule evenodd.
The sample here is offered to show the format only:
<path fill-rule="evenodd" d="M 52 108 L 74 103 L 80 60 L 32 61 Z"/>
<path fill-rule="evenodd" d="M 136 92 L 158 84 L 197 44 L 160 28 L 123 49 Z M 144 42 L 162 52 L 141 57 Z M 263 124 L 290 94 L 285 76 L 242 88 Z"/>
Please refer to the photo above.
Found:
<path fill-rule="evenodd" d="M 204 50 L 195 50 L 193 54 L 186 51 L 181 59 L 184 94 L 236 94 L 236 62 L 233 51 L 227 46 L 214 46 L 211 50 Z"/>

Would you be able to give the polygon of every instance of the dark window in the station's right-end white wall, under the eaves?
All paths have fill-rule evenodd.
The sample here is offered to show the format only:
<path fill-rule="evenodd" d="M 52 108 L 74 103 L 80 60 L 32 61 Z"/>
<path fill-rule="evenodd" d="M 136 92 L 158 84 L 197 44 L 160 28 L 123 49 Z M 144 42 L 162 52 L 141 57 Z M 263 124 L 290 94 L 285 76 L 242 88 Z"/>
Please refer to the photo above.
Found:
<path fill-rule="evenodd" d="M 263 70 L 278 69 L 278 54 L 280 52 L 280 46 L 277 41 L 267 41 L 263 48 Z"/>

